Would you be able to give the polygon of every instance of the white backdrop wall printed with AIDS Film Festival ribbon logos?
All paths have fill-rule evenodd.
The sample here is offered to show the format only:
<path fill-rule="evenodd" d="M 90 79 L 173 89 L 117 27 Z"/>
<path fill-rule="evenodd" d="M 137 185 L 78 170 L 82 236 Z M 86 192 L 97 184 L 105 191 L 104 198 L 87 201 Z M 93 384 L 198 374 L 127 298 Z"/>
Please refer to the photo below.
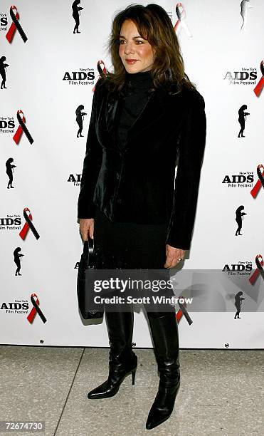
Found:
<path fill-rule="evenodd" d="M 147 5 L 145 1 L 139 4 Z M 157 1 L 176 24 L 174 1 Z M 258 181 L 256 167 L 264 165 L 263 103 L 264 90 L 255 95 L 260 81 L 263 59 L 264 4 L 261 0 L 246 2 L 248 20 L 243 22 L 240 0 L 186 0 L 186 24 L 191 37 L 179 24 L 176 33 L 184 56 L 186 73 L 196 83 L 206 103 L 207 136 L 204 165 L 201 172 L 199 202 L 191 250 L 184 269 L 223 269 L 228 264 L 252 262 L 262 254 L 263 187 L 255 199 L 250 194 Z M 2 344 L 44 346 L 108 346 L 105 320 L 102 323 L 81 321 L 76 295 L 75 267 L 83 244 L 77 222 L 80 186 L 73 180 L 83 169 L 93 87 L 98 78 L 97 62 L 103 60 L 111 71 L 106 51 L 110 24 L 115 11 L 130 1 L 81 0 L 80 33 L 73 34 L 72 1 L 18 0 L 19 22 L 28 40 L 23 42 L 16 30 L 9 43 L 6 33 L 11 26 L 9 1 L 1 1 L 0 58 L 6 57 L 6 87 L 0 90 L 1 142 L 1 291 L 0 331 Z M 8 23 L 5 26 L 6 17 Z M 95 80 L 71 84 L 65 73 L 89 69 Z M 256 80 L 236 84 L 226 78 L 230 72 L 256 72 Z M 238 76 L 241 73 L 238 74 Z M 241 78 L 241 76 L 239 76 Z M 0 77 L 1 80 L 1 77 Z M 245 137 L 238 137 L 238 109 L 248 105 Z M 88 113 L 83 123 L 84 137 L 77 138 L 75 109 L 84 105 Z M 23 110 L 33 144 L 23 133 L 18 145 L 13 140 L 19 127 L 17 110 Z M 14 118 L 14 129 L 6 123 Z M 5 163 L 14 159 L 14 189 L 7 189 Z M 252 172 L 251 187 L 228 187 L 228 175 Z M 243 204 L 242 236 L 235 236 L 235 212 Z M 28 207 L 39 239 L 29 230 L 25 239 L 19 232 Z M 21 218 L 21 225 L 6 224 L 8 217 Z M 17 227 L 12 229 L 12 227 Z M 21 276 L 15 276 L 13 252 L 21 247 Z M 181 348 L 263 348 L 264 346 L 264 281 L 258 276 L 258 310 L 241 312 L 191 313 L 191 326 L 184 318 L 179 322 Z M 43 323 L 36 314 L 33 322 L 27 316 L 32 309 L 31 294 L 38 296 L 39 307 L 46 317 Z M 246 296 L 250 299 L 250 296 Z M 15 302 L 28 303 L 25 313 L 12 311 Z M 138 347 L 152 346 L 147 321 L 135 313 L 134 342 Z"/>

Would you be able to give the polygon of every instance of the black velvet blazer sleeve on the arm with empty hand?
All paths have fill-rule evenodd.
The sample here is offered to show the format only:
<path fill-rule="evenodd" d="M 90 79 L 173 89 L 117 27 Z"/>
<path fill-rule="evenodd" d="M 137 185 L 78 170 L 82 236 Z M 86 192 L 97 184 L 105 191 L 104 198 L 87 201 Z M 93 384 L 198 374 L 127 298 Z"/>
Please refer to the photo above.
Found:
<path fill-rule="evenodd" d="M 179 162 L 167 244 L 189 250 L 194 229 L 201 165 L 206 142 L 206 114 L 202 95 L 196 91 L 189 103 L 179 141 Z"/>

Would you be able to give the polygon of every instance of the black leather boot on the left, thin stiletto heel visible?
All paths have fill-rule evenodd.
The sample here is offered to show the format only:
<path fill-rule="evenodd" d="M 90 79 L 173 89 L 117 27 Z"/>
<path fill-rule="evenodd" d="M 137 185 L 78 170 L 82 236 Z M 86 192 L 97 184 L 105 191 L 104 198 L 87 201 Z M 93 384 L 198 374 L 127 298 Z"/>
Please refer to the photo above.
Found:
<path fill-rule="evenodd" d="M 132 385 L 134 385 L 137 369 L 137 355 L 132 351 L 134 312 L 105 311 L 105 320 L 110 344 L 109 375 L 102 385 L 88 393 L 88 398 L 114 396 L 129 374 L 132 374 Z"/>

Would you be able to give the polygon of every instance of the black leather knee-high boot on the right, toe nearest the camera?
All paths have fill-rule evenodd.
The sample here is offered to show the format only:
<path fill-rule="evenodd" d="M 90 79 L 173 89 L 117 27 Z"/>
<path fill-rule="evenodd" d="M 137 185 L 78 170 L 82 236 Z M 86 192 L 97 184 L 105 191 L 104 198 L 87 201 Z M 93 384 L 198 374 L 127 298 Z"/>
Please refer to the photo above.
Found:
<path fill-rule="evenodd" d="M 148 430 L 157 427 L 171 415 L 180 386 L 179 334 L 176 314 L 153 317 L 147 313 L 159 370 L 159 390 L 149 411 Z"/>

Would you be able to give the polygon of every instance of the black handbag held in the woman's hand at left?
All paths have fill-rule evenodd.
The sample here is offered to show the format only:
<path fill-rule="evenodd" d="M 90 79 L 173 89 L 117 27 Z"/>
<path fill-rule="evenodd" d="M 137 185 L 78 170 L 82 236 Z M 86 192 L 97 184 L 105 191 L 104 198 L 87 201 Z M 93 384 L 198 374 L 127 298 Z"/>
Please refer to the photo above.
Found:
<path fill-rule="evenodd" d="M 77 276 L 77 295 L 80 313 L 84 319 L 102 318 L 103 310 L 97 311 L 88 308 L 88 286 L 85 285 L 85 271 L 90 268 L 95 268 L 95 253 L 93 239 L 88 238 L 88 241 L 83 243 L 83 254 L 80 257 L 78 276 Z"/>

